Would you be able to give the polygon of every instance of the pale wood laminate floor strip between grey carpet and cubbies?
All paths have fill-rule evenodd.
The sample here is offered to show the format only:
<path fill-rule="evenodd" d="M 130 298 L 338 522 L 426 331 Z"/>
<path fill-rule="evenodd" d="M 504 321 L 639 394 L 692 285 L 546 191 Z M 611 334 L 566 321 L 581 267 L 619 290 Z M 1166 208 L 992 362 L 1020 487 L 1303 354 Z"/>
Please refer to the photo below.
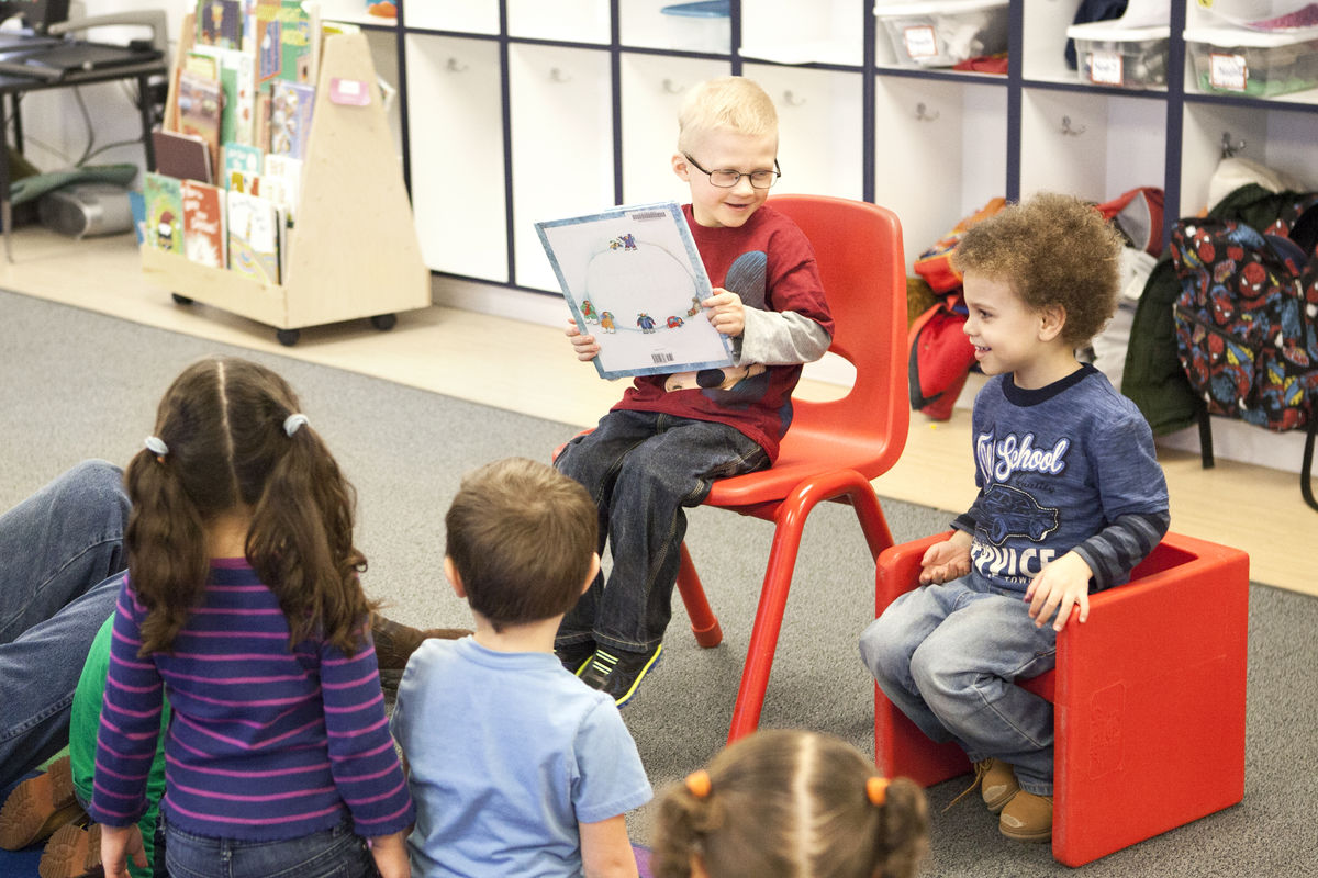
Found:
<path fill-rule="evenodd" d="M 436 299 L 445 299 L 448 283 L 436 282 Z M 555 325 L 443 305 L 402 313 L 386 333 L 366 320 L 308 328 L 298 345 L 283 348 L 269 326 L 175 304 L 170 290 L 142 276 L 130 236 L 72 241 L 18 229 L 13 262 L 0 263 L 0 287 L 580 426 L 594 424 L 622 392 L 576 362 Z M 536 319 L 554 313 L 536 304 Z M 58 341 L 58 326 L 51 340 Z M 840 392 L 818 380 L 804 380 L 797 391 L 808 399 Z M 1294 474 L 1220 458 L 1203 470 L 1197 454 L 1174 449 L 1160 449 L 1159 457 L 1174 530 L 1244 549 L 1255 582 L 1318 595 L 1318 512 L 1304 504 Z M 902 459 L 875 488 L 882 496 L 965 509 L 974 499 L 969 412 L 958 409 L 941 424 L 915 415 Z"/>

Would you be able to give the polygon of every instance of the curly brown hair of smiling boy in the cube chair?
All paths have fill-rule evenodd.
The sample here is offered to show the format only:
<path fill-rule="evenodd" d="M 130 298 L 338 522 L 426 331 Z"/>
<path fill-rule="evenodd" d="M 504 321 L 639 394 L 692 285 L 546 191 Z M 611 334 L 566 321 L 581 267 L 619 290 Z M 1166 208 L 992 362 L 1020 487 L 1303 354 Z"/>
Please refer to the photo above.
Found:
<path fill-rule="evenodd" d="M 1087 201 L 1040 192 L 970 228 L 952 267 L 1006 282 L 1032 311 L 1066 311 L 1061 337 L 1078 348 L 1116 311 L 1122 236 Z"/>

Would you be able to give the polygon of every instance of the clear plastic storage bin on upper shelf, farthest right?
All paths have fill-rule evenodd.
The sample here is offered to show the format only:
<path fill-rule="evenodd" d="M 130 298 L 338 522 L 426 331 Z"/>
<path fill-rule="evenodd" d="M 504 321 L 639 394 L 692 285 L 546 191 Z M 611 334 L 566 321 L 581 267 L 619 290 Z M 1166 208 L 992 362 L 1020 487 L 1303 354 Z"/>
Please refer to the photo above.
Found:
<path fill-rule="evenodd" d="M 1185 49 L 1202 92 L 1269 97 L 1318 87 L 1318 30 L 1186 28 Z"/>

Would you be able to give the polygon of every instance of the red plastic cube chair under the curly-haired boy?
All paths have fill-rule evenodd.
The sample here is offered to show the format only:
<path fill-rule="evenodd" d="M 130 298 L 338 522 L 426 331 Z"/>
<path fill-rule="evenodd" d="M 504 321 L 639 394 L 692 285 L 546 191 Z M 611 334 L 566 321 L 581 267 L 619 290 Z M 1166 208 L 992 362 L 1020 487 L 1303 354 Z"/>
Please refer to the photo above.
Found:
<path fill-rule="evenodd" d="M 876 612 L 916 587 L 934 534 L 879 557 Z M 1021 683 L 1053 703 L 1053 856 L 1081 866 L 1244 796 L 1249 557 L 1168 533 L 1131 582 L 1057 636 L 1057 667 Z M 970 770 L 875 687 L 880 771 L 929 786 Z"/>

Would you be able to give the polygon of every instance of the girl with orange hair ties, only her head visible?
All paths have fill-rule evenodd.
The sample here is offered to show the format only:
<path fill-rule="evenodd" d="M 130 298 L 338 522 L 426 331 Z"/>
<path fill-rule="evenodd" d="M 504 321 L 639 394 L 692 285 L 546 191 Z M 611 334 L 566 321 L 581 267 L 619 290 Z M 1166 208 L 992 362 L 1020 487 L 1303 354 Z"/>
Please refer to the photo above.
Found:
<path fill-rule="evenodd" d="M 659 803 L 655 878 L 911 878 L 924 791 L 816 732 L 741 738 Z"/>

